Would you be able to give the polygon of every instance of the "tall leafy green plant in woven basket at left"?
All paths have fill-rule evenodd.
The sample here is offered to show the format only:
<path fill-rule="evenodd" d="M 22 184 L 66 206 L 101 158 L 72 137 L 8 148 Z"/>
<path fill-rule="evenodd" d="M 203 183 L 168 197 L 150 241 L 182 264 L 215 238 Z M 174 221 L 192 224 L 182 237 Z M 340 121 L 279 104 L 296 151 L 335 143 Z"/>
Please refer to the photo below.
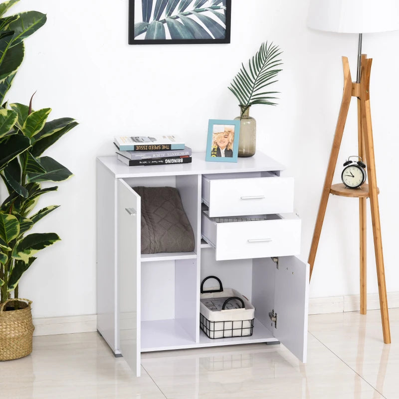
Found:
<path fill-rule="evenodd" d="M 31 301 L 18 299 L 18 282 L 36 260 L 33 255 L 60 238 L 56 233 L 29 230 L 58 207 L 34 209 L 41 195 L 57 190 L 57 186 L 42 188 L 41 183 L 72 175 L 54 159 L 41 155 L 77 125 L 72 118 L 47 121 L 51 109 L 32 110 L 32 98 L 28 106 L 4 103 L 23 60 L 23 40 L 46 22 L 45 14 L 37 11 L 4 16 L 17 1 L 0 3 L 0 176 L 8 191 L 0 204 L 0 360 L 17 359 L 32 351 Z"/>

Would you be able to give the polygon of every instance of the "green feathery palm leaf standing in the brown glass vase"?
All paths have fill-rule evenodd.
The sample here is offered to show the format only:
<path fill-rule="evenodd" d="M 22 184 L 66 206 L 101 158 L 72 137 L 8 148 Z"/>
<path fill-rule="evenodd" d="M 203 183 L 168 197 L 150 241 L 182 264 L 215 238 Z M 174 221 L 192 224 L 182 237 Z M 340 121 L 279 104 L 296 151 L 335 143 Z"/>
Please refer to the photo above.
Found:
<path fill-rule="evenodd" d="M 278 46 L 270 43 L 262 43 L 259 51 L 249 59 L 248 68 L 242 64 L 242 68 L 235 75 L 228 89 L 234 94 L 241 106 L 241 117 L 244 112 L 254 104 L 276 105 L 270 101 L 277 97 L 270 94 L 277 91 L 264 91 L 266 86 L 277 82 L 277 74 L 282 70 L 278 69 L 282 65 L 278 59 L 282 51 Z"/>

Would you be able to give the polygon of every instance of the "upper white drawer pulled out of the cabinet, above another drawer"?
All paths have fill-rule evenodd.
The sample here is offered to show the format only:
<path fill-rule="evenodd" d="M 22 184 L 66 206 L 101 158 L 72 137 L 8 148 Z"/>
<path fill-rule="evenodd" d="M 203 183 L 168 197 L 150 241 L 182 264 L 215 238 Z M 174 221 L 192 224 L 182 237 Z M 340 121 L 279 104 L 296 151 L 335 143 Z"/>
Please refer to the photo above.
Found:
<path fill-rule="evenodd" d="M 294 207 L 294 178 L 270 172 L 262 177 L 248 174 L 202 176 L 202 202 L 209 216 L 290 213 Z M 226 176 L 230 178 L 226 179 Z"/>

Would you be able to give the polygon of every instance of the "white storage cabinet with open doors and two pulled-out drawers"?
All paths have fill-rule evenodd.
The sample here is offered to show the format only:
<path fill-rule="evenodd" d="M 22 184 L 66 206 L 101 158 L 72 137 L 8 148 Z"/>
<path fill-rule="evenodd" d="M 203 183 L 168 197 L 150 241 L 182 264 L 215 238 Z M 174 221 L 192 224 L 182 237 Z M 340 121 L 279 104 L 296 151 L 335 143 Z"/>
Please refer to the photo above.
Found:
<path fill-rule="evenodd" d="M 309 265 L 295 256 L 293 178 L 280 177 L 284 167 L 259 152 L 238 163 L 204 160 L 199 153 L 191 164 L 128 167 L 97 159 L 98 332 L 137 376 L 142 352 L 171 349 L 280 341 L 306 362 Z M 193 252 L 140 253 L 136 186 L 179 190 Z M 210 339 L 200 331 L 200 283 L 209 275 L 254 305 L 252 336 Z"/>

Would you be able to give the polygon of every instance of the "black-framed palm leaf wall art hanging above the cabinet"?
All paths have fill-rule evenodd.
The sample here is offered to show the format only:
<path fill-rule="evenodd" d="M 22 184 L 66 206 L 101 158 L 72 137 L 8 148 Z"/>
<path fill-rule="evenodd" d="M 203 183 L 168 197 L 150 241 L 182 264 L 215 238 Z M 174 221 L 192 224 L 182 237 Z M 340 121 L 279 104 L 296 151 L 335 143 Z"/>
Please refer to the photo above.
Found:
<path fill-rule="evenodd" d="M 231 0 L 129 0 L 129 44 L 230 43 Z"/>

